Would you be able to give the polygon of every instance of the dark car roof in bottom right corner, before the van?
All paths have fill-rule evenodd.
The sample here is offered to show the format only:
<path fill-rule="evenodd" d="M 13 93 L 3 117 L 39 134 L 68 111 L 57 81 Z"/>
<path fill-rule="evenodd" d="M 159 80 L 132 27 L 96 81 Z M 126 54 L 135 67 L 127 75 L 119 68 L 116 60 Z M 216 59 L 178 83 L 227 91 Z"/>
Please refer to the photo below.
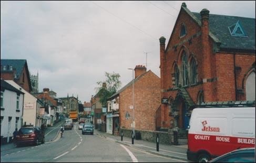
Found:
<path fill-rule="evenodd" d="M 255 162 L 255 148 L 234 150 L 209 162 Z"/>

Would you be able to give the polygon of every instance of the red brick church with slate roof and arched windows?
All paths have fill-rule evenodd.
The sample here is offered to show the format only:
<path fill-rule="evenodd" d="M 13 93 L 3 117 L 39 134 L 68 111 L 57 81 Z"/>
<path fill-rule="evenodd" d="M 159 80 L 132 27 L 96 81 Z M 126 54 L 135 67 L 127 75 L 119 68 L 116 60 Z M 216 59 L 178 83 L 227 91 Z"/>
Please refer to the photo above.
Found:
<path fill-rule="evenodd" d="M 202 102 L 255 101 L 255 18 L 182 3 L 168 44 L 159 40 L 161 128 L 187 129 Z"/>

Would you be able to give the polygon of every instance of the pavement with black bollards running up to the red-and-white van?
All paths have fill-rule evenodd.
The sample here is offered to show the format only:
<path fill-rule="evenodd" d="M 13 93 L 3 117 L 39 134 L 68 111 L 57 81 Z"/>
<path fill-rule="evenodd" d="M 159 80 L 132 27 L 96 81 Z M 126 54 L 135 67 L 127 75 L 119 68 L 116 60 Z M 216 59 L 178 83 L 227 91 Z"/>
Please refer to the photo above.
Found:
<path fill-rule="evenodd" d="M 142 150 L 150 154 L 169 157 L 169 158 L 175 158 L 175 159 L 180 159 L 180 160 L 185 160 L 187 162 L 190 162 L 187 159 L 188 145 L 175 146 L 175 145 L 159 144 L 159 151 L 157 151 L 156 143 L 147 142 L 145 140 L 134 139 L 134 144 L 132 145 L 131 138 L 129 137 L 123 137 L 123 141 L 121 141 L 121 136 L 115 136 L 115 135 L 103 133 L 103 132 L 97 131 L 96 129 L 94 132 L 95 134 L 103 138 L 113 140 L 116 143 L 120 143 L 128 147 L 136 148 L 138 150 Z"/>

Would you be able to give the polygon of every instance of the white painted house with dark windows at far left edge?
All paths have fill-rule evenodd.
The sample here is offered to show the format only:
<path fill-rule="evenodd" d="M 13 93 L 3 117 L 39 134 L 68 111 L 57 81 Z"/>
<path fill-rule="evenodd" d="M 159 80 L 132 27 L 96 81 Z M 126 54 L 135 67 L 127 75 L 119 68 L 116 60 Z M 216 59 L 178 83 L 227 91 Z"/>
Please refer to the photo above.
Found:
<path fill-rule="evenodd" d="M 1 79 L 1 143 L 13 137 L 23 123 L 24 93 Z"/>

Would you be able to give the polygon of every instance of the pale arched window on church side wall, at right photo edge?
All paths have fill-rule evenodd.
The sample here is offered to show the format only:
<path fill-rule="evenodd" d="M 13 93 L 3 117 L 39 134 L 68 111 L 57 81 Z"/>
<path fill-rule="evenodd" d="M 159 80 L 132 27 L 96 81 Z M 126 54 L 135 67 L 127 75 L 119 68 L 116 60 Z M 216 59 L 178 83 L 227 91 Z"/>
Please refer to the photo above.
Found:
<path fill-rule="evenodd" d="M 252 71 L 245 81 L 245 92 L 247 101 L 255 101 L 255 71 Z"/>

